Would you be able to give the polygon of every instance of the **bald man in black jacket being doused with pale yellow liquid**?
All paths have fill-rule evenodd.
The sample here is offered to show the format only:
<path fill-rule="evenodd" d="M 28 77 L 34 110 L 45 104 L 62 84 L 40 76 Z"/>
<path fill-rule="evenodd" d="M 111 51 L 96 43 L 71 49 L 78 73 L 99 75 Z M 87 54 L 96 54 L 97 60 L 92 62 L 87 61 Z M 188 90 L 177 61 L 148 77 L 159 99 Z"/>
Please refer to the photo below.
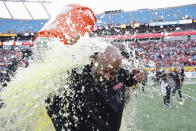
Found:
<path fill-rule="evenodd" d="M 104 53 L 95 54 L 91 65 L 86 65 L 82 72 L 72 71 L 70 90 L 62 89 L 60 95 L 46 100 L 48 115 L 57 131 L 119 130 L 125 88 L 145 77 L 139 70 L 129 73 L 120 65 L 119 50 L 108 46 Z"/>

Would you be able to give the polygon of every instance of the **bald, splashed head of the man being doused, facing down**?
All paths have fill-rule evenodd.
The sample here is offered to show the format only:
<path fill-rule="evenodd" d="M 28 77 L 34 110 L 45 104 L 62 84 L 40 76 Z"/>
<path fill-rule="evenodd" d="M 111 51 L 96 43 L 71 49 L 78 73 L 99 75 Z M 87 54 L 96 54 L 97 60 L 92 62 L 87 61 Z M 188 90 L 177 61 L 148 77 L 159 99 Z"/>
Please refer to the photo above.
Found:
<path fill-rule="evenodd" d="M 92 72 L 98 82 L 105 83 L 112 80 L 121 64 L 121 55 L 117 47 L 108 46 L 104 53 L 95 56 Z"/>

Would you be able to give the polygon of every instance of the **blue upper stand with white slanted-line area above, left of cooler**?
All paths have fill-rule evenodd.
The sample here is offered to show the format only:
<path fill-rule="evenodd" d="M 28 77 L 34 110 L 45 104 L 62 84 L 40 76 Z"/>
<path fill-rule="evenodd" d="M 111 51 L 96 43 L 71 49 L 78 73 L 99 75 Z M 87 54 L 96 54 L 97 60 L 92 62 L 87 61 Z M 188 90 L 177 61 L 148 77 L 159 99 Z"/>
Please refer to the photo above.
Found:
<path fill-rule="evenodd" d="M 50 18 L 48 4 L 50 2 L 1 0 L 0 7 L 4 10 L 0 14 L 0 33 L 38 32 Z M 18 9 L 23 12 L 18 12 Z"/>

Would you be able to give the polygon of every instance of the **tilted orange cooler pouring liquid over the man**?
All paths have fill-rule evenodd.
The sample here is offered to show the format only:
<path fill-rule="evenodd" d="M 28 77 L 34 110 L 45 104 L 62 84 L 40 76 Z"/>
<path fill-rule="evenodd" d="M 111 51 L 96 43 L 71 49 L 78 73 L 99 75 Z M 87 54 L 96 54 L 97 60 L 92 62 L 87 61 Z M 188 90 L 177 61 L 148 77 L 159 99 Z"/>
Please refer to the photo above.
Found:
<path fill-rule="evenodd" d="M 91 33 L 97 17 L 94 12 L 78 4 L 67 5 L 54 20 L 50 20 L 39 31 L 34 39 L 38 37 L 57 38 L 65 45 L 71 44 L 71 40 Z"/>

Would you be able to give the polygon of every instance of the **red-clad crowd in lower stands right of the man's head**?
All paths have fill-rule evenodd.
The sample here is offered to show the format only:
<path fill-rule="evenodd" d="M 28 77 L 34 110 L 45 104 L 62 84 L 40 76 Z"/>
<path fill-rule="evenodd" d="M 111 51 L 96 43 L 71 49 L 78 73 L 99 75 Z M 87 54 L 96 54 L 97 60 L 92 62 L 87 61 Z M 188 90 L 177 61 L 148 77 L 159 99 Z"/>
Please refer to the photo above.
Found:
<path fill-rule="evenodd" d="M 134 46 L 143 52 L 141 57 L 147 65 L 153 61 L 162 67 L 196 66 L 196 40 L 148 41 Z"/>

